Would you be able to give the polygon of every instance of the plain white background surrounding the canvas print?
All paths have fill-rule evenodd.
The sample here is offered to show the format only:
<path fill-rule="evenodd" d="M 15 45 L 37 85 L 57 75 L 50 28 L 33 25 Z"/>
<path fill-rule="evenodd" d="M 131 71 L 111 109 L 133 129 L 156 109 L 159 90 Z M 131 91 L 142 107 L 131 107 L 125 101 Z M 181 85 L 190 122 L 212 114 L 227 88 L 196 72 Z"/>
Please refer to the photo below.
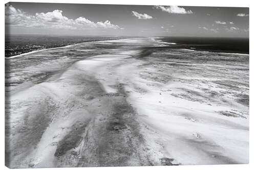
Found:
<path fill-rule="evenodd" d="M 5 138 L 4 138 L 4 130 L 5 130 L 5 120 L 4 120 L 4 114 L 5 114 L 5 7 L 4 4 L 8 3 L 9 1 L 1 1 L 0 11 L 1 11 L 1 56 L 0 56 L 0 169 L 8 169 L 5 167 Z M 255 75 L 256 74 L 256 41 L 255 41 L 255 10 L 256 10 L 256 1 L 249 1 L 249 0 L 214 0 L 214 1 L 206 1 L 206 0 L 176 0 L 176 1 L 168 1 L 168 0 L 158 0 L 158 1 L 149 1 L 149 0 L 129 0 L 129 1 L 118 1 L 118 0 L 44 0 L 44 1 L 17 1 L 14 2 L 41 2 L 41 3 L 76 3 L 76 4 L 127 4 L 127 5 L 177 5 L 177 6 L 219 6 L 219 7 L 249 7 L 249 18 L 250 18 L 250 163 L 249 164 L 242 164 L 242 165 L 189 165 L 189 166 L 138 166 L 138 167 L 87 167 L 86 169 L 170 169 L 176 170 L 176 169 L 189 169 L 189 170 L 201 170 L 201 169 L 256 169 L 256 159 L 255 159 Z M 51 169 L 75 169 L 77 168 L 51 168 Z M 79 168 L 84 169 L 84 168 Z"/>

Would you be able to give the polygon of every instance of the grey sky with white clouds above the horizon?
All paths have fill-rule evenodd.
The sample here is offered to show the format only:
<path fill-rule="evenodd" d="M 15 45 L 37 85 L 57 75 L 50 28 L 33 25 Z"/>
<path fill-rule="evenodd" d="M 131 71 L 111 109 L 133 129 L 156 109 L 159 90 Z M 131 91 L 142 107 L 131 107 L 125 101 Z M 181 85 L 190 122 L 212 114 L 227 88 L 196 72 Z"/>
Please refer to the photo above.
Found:
<path fill-rule="evenodd" d="M 249 37 L 249 8 L 8 3 L 6 34 Z"/>

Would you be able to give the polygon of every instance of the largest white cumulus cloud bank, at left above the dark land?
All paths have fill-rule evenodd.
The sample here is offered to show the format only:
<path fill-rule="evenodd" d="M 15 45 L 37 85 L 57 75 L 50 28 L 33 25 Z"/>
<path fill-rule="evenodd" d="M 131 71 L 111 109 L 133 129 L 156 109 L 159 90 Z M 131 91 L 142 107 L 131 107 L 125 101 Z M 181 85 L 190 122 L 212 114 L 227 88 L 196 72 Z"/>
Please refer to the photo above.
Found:
<path fill-rule="evenodd" d="M 109 20 L 93 22 L 84 17 L 70 19 L 61 10 L 47 13 L 27 14 L 12 5 L 5 6 L 5 23 L 13 27 L 51 28 L 51 29 L 122 29 Z"/>

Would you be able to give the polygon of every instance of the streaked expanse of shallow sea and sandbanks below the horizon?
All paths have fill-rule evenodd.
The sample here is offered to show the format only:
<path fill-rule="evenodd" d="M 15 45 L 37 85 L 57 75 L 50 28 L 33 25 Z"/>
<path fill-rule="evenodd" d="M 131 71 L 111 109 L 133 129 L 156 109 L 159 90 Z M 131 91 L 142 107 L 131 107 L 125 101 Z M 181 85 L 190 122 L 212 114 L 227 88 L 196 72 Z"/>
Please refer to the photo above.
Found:
<path fill-rule="evenodd" d="M 248 163 L 248 39 L 33 41 L 6 51 L 9 167 Z"/>

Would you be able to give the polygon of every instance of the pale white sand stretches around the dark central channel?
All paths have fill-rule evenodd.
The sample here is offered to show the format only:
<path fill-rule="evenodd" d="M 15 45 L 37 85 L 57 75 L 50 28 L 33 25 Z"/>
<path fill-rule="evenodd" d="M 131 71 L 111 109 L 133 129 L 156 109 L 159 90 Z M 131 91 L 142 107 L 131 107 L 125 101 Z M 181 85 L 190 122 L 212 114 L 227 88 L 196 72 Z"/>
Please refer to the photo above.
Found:
<path fill-rule="evenodd" d="M 112 42 L 166 45 L 154 38 L 95 43 Z M 33 116 L 40 118 L 40 115 L 46 114 L 43 108 L 48 108 L 48 111 L 54 108 L 50 111 L 51 119 L 47 122 L 49 125 L 43 126 L 45 130 L 41 136 L 38 134 L 40 138 L 36 147 L 33 149 L 25 144 L 25 149 L 31 151 L 29 154 L 13 156 L 13 167 L 27 167 L 28 164 L 33 167 L 56 166 L 56 144 L 71 131 L 72 125 L 79 120 L 87 122 L 91 119 L 90 126 L 94 125 L 94 117 L 104 112 L 104 108 L 100 106 L 105 103 L 99 100 L 101 98 L 91 98 L 100 89 L 93 88 L 95 82 L 90 82 L 90 78 L 97 80 L 97 86 L 108 94 L 118 93 L 120 89 L 117 86 L 124 88 L 127 102 L 138 113 L 136 120 L 145 139 L 145 147 L 148 148 L 147 154 L 150 153 L 148 159 L 154 164 L 160 165 L 161 158 L 172 158 L 172 163 L 183 165 L 248 163 L 249 108 L 235 98 L 237 92 L 248 94 L 247 87 L 241 84 L 247 83 L 247 73 L 236 69 L 246 68 L 247 65 L 214 62 L 205 64 L 189 60 L 161 60 L 157 57 L 137 59 L 133 56 L 141 53 L 138 49 L 116 50 L 113 53 L 77 61 L 60 76 L 56 76 L 56 79 L 37 85 L 23 84 L 20 90 L 11 95 L 11 150 L 22 139 L 23 134 L 18 130 L 26 116 L 28 123 L 31 123 L 29 121 L 33 121 Z M 57 69 L 58 62 L 56 63 Z M 177 67 L 177 64 L 181 66 Z M 38 66 L 42 71 L 53 64 L 40 63 Z M 28 67 L 28 70 L 31 71 L 32 68 L 35 66 Z M 222 68 L 226 70 L 220 70 Z M 239 81 L 240 91 L 236 89 L 236 85 L 225 88 L 218 84 L 218 81 L 223 80 Z M 232 85 L 232 82 L 228 84 Z M 110 100 L 110 108 L 115 105 L 111 102 L 115 100 Z M 31 135 L 30 131 L 33 132 L 28 130 L 25 133 Z M 31 135 L 28 142 L 33 143 L 33 137 Z M 73 150 L 80 151 L 86 147 L 83 142 Z M 16 148 L 13 151 L 20 152 L 23 149 Z M 24 160 L 19 162 L 22 157 Z M 77 160 L 71 160 L 75 165 Z M 134 164 L 137 165 L 136 161 Z"/>

